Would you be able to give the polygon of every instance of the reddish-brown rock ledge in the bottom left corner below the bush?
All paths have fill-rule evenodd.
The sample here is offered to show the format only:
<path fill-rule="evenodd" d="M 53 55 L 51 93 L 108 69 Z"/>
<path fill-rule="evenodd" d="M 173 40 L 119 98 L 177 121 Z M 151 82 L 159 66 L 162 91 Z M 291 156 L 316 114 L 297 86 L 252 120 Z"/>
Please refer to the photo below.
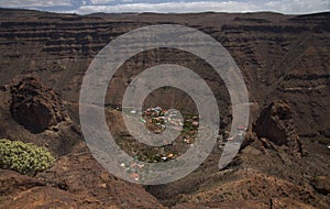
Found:
<path fill-rule="evenodd" d="M 0 208 L 99 208 L 89 197 L 47 186 L 35 177 L 0 169 Z M 112 205 L 108 206 L 111 208 Z"/>

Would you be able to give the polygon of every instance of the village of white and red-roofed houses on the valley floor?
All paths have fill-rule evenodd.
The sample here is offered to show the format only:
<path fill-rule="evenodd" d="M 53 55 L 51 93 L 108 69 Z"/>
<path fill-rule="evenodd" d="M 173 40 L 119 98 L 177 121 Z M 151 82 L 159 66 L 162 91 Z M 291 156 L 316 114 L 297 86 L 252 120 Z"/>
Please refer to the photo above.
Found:
<path fill-rule="evenodd" d="M 131 117 L 139 117 L 139 121 L 155 134 L 162 133 L 165 129 L 182 130 L 180 135 L 174 142 L 156 148 L 157 152 L 153 152 L 150 148 L 140 148 L 133 156 L 140 163 L 121 163 L 121 167 L 124 167 L 134 180 L 141 178 L 139 170 L 144 168 L 143 162 L 164 163 L 172 161 L 185 153 L 190 146 L 194 146 L 199 128 L 199 118 L 197 116 L 182 117 L 178 110 L 168 110 L 158 106 L 146 108 L 142 112 L 135 109 L 122 109 L 121 111 Z"/>

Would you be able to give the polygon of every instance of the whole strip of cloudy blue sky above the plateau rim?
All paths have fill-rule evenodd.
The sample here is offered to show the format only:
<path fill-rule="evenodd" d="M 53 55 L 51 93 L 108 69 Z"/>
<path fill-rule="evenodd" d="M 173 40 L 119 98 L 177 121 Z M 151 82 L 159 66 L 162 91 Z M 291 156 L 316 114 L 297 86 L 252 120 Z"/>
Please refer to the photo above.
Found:
<path fill-rule="evenodd" d="M 0 8 L 61 13 L 96 12 L 258 12 L 306 14 L 330 11 L 330 0 L 0 0 Z"/>

